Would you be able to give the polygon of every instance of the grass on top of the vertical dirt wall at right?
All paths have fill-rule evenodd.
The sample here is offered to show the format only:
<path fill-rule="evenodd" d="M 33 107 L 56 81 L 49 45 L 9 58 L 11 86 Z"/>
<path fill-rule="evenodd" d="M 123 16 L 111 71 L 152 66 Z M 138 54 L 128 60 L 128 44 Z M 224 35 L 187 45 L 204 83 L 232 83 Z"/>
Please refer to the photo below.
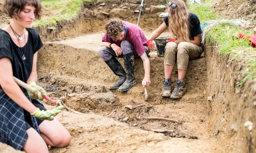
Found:
<path fill-rule="evenodd" d="M 217 53 L 228 57 L 228 62 L 243 62 L 246 65 L 241 73 L 244 78 L 237 84 L 239 88 L 246 82 L 247 79 L 256 78 L 256 49 L 251 46 L 251 42 L 247 39 L 236 38 L 239 33 L 244 33 L 245 36 L 254 35 L 253 31 L 239 29 L 239 26 L 229 22 L 218 22 L 206 31 L 205 43 L 210 45 L 218 45 Z M 235 37 L 234 37 L 235 36 Z"/>

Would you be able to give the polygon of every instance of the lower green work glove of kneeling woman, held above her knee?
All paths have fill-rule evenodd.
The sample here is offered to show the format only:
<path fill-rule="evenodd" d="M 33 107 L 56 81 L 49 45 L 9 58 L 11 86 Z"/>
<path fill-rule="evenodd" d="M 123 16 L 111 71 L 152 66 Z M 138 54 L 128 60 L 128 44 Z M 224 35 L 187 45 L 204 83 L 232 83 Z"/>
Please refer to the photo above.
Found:
<path fill-rule="evenodd" d="M 31 115 L 34 115 L 35 117 L 41 119 L 41 120 L 54 120 L 54 116 L 59 114 L 61 112 L 61 109 L 63 109 L 64 106 L 58 106 L 56 108 L 54 108 L 54 110 L 39 110 L 39 108 L 37 108 L 37 110 L 33 113 L 30 113 Z"/>

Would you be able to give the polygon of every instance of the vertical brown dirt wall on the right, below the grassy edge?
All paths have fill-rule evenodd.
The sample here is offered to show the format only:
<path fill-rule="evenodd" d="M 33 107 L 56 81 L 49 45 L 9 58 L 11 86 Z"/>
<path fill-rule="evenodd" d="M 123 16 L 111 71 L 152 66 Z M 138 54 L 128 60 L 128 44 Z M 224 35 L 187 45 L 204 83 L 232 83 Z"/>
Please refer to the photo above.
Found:
<path fill-rule="evenodd" d="M 215 48 L 207 48 L 205 55 L 209 130 L 213 136 L 227 142 L 224 148 L 228 152 L 254 153 L 256 149 L 255 80 L 246 81 L 239 91 L 236 85 L 243 76 L 236 72 L 243 72 L 246 65 L 241 61 L 227 62 L 228 57 L 218 55 Z"/>

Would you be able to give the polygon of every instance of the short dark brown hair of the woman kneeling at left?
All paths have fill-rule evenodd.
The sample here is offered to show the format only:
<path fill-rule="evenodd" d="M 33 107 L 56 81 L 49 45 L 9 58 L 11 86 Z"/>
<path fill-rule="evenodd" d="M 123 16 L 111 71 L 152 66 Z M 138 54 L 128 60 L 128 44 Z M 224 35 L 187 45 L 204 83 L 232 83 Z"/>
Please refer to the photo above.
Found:
<path fill-rule="evenodd" d="M 34 6 L 36 8 L 35 18 L 41 19 L 42 13 L 40 0 L 5 0 L 5 3 L 2 5 L 2 10 L 11 18 L 16 18 L 20 17 L 19 14 L 24 10 L 26 5 Z"/>

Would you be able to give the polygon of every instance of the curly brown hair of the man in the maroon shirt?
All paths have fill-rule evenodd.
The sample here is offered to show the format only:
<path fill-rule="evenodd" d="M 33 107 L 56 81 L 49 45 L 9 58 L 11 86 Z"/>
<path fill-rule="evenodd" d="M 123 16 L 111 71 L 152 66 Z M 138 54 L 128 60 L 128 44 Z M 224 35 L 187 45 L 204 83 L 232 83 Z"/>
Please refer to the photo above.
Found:
<path fill-rule="evenodd" d="M 124 23 L 120 19 L 110 19 L 105 25 L 107 36 L 116 41 L 118 34 L 124 31 Z"/>

